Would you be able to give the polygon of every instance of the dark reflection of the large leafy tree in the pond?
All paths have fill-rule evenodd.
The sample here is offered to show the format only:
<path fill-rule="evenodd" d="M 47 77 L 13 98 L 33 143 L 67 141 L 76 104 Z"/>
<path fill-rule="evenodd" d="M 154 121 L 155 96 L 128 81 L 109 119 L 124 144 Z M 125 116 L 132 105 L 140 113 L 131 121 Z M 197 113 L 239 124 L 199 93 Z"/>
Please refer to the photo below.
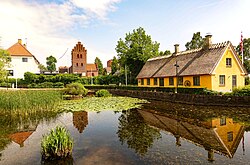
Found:
<path fill-rule="evenodd" d="M 159 130 L 147 125 L 137 110 L 123 112 L 119 117 L 118 137 L 122 144 L 144 155 L 155 139 L 161 138 Z"/>

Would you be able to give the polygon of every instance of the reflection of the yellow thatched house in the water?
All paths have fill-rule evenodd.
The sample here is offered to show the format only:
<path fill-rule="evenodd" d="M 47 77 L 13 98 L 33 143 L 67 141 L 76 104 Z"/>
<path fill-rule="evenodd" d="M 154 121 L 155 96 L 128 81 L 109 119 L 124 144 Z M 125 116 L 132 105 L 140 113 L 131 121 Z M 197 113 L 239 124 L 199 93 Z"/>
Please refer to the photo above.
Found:
<path fill-rule="evenodd" d="M 203 146 L 208 151 L 210 161 L 213 160 L 214 152 L 232 158 L 244 134 L 244 126 L 234 123 L 231 118 L 216 118 L 197 126 L 187 122 L 188 120 L 180 120 L 177 116 L 138 111 L 148 124 L 172 133 L 176 138 L 176 145 L 181 146 L 183 138 Z"/>

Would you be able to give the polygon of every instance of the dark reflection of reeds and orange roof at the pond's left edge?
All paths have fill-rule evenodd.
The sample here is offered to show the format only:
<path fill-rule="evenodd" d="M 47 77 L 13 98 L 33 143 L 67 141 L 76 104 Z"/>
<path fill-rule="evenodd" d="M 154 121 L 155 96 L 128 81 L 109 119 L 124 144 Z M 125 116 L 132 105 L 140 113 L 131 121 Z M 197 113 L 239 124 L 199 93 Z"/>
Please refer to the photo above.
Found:
<path fill-rule="evenodd" d="M 40 122 L 48 122 L 59 115 L 53 110 L 0 110 L 0 151 L 11 141 L 24 146 Z"/>

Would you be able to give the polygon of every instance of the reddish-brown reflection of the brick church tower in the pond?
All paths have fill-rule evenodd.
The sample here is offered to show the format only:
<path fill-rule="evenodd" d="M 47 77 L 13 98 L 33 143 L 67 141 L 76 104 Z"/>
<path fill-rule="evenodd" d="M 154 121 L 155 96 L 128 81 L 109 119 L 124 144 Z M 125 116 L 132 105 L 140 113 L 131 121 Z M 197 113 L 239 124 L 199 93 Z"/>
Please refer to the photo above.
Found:
<path fill-rule="evenodd" d="M 88 125 L 88 112 L 73 112 L 73 124 L 82 133 L 84 128 Z"/>

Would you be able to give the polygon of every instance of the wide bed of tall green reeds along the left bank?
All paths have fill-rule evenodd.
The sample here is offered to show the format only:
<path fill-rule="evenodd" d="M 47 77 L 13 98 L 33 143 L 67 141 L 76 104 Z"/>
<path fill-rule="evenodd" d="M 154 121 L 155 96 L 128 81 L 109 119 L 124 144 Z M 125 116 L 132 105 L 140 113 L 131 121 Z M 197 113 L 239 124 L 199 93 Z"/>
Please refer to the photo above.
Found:
<path fill-rule="evenodd" d="M 55 90 L 0 91 L 0 110 L 34 110 L 54 108 L 62 100 Z"/>

